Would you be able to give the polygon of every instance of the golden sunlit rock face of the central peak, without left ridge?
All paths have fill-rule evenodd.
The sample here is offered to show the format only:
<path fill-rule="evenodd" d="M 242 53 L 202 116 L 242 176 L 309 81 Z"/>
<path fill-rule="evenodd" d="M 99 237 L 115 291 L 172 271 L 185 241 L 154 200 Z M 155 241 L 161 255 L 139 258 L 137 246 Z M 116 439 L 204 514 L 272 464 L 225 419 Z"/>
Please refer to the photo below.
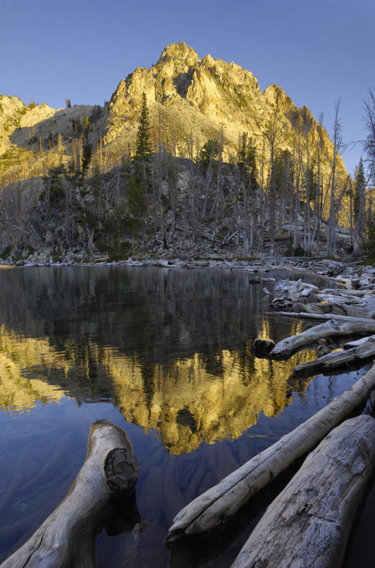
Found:
<path fill-rule="evenodd" d="M 324 155 L 322 169 L 329 169 L 333 145 L 307 107 L 297 108 L 278 85 L 270 85 L 262 93 L 250 71 L 211 55 L 200 60 L 184 42 L 167 46 L 150 69 L 137 68 L 121 80 L 112 95 L 105 142 L 116 142 L 116 148 L 122 144 L 125 153 L 134 148 L 143 92 L 155 144 L 162 139 L 177 155 L 196 153 L 208 139 L 217 139 L 222 128 L 226 159 L 236 149 L 242 132 L 252 136 L 261 150 L 263 132 L 277 115 L 282 131 L 280 147 L 292 151 L 296 134 L 303 138 L 311 123 L 312 139 Z M 339 169 L 345 173 L 341 158 Z"/>

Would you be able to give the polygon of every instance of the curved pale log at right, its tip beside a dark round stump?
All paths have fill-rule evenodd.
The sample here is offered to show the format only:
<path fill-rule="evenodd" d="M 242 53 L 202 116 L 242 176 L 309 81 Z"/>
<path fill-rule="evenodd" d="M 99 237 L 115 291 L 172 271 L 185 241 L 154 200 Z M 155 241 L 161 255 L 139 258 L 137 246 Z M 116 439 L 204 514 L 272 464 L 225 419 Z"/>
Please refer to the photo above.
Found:
<path fill-rule="evenodd" d="M 299 347 L 304 347 L 320 338 L 375 332 L 375 320 L 354 319 L 351 321 L 329 320 L 306 329 L 301 334 L 282 339 L 268 354 L 270 359 L 288 359 Z"/>

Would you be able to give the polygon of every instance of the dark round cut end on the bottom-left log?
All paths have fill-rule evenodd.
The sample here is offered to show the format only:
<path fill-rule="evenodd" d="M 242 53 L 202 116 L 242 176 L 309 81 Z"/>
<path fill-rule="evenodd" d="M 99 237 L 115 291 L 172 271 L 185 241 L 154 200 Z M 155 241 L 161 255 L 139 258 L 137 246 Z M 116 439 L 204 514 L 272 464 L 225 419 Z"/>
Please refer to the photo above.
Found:
<path fill-rule="evenodd" d="M 114 448 L 105 458 L 104 473 L 110 490 L 130 493 L 137 483 L 139 463 L 128 449 Z"/>

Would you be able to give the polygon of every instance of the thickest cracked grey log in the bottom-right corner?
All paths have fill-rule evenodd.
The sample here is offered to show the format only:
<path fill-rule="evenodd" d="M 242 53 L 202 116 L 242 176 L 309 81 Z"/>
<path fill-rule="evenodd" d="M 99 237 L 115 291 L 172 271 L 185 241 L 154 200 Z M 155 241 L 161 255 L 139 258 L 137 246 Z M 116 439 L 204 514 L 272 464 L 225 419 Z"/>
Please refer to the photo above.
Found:
<path fill-rule="evenodd" d="M 375 420 L 329 433 L 270 504 L 232 568 L 341 566 L 358 504 L 375 469 Z"/>

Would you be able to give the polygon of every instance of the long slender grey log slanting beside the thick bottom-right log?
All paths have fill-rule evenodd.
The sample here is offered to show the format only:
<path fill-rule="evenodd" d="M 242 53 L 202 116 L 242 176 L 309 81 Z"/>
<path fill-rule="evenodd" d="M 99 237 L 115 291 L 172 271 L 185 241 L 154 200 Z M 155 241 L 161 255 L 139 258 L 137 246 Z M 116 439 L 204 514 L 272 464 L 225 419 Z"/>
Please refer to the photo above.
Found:
<path fill-rule="evenodd" d="M 218 485 L 196 497 L 177 513 L 166 542 L 182 535 L 209 531 L 232 517 L 256 492 L 284 472 L 297 458 L 304 456 L 326 434 L 345 420 L 375 386 L 375 365 L 339 397 L 261 451 L 250 461 L 225 477 Z"/>

